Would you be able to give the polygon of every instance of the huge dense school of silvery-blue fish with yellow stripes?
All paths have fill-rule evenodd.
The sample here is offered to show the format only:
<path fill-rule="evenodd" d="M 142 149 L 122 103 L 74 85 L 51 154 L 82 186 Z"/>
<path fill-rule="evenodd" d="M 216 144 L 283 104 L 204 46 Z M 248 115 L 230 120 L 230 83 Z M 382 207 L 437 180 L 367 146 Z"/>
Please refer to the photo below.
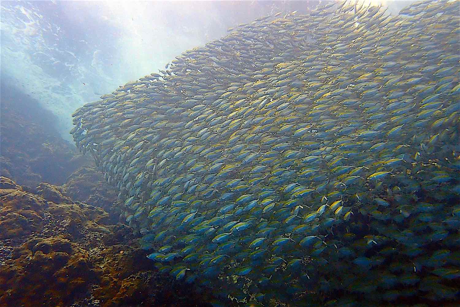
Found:
<path fill-rule="evenodd" d="M 458 301 L 459 7 L 239 24 L 79 108 L 71 134 L 152 266 L 214 306 Z"/>

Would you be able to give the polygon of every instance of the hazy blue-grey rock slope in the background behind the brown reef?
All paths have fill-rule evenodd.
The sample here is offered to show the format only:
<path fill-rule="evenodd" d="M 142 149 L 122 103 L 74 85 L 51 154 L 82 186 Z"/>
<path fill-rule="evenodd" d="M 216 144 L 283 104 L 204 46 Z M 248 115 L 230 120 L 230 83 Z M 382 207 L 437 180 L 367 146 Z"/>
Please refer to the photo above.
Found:
<path fill-rule="evenodd" d="M 3 83 L 1 92 L 1 176 L 28 187 L 63 184 L 75 169 L 92 163 L 62 138 L 53 125 L 57 119 L 39 102 Z"/>

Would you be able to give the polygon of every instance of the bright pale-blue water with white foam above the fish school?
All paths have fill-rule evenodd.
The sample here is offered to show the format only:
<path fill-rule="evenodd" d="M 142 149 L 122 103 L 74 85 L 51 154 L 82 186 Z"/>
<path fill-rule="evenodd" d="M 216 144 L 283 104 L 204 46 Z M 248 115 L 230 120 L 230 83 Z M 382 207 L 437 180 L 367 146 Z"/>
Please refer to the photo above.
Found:
<path fill-rule="evenodd" d="M 238 23 L 309 1 L 2 1 L 1 79 L 57 115 L 157 72 Z"/>

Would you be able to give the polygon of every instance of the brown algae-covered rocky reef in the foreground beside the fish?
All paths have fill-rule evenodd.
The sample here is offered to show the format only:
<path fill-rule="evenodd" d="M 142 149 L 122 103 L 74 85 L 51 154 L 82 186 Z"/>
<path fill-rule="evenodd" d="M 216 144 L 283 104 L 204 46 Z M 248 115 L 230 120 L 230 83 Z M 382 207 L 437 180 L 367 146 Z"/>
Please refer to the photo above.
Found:
<path fill-rule="evenodd" d="M 79 181 L 34 191 L 0 177 L 0 306 L 207 306 L 156 271 L 129 227 L 73 200 L 97 194 Z"/>

